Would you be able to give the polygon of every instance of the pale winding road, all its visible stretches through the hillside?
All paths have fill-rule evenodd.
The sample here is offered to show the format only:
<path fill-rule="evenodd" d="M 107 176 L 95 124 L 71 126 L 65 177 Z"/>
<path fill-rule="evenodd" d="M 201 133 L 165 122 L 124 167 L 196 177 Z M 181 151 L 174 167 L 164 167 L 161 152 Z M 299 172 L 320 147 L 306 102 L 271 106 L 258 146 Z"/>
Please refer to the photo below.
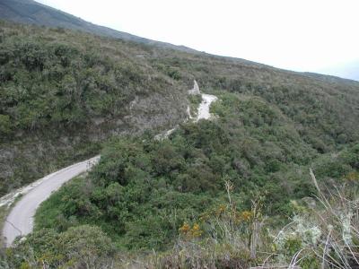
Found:
<path fill-rule="evenodd" d="M 199 119 L 208 119 L 211 116 L 209 107 L 215 100 L 217 100 L 215 95 L 202 94 L 202 102 L 198 107 L 196 121 Z M 167 131 L 164 135 L 168 136 L 174 130 L 175 128 Z M 12 204 L 16 196 L 23 195 L 5 220 L 3 229 L 5 246 L 10 247 L 16 237 L 24 236 L 31 232 L 34 221 L 33 217 L 39 204 L 48 199 L 52 192 L 56 191 L 71 178 L 91 169 L 99 160 L 100 156 L 96 156 L 90 160 L 76 163 L 65 169 L 58 170 L 45 178 L 41 178 L 28 187 L 23 187 L 13 194 L 2 197 L 0 199 L 0 206 L 4 204 Z"/>

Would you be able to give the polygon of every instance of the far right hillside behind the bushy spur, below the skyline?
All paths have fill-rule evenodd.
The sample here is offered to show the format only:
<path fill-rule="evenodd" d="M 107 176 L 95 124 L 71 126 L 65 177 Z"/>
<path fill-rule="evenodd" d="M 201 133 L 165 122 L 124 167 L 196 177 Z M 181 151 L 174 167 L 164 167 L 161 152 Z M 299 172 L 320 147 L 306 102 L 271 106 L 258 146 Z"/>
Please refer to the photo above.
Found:
<path fill-rule="evenodd" d="M 303 139 L 319 152 L 358 138 L 359 82 L 308 75 L 217 56 L 162 54 L 159 70 L 194 75 L 206 89 L 260 96 L 293 121 Z"/>

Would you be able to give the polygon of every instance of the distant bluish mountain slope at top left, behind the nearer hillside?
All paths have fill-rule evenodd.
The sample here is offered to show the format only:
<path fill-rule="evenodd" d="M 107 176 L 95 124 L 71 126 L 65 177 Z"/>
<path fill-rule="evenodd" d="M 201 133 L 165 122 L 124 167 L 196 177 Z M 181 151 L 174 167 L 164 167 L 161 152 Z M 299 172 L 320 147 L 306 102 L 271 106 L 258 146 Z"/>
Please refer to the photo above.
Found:
<path fill-rule="evenodd" d="M 174 48 L 188 52 L 197 52 L 195 49 L 184 46 L 175 46 L 170 43 L 144 39 L 127 32 L 112 30 L 110 28 L 83 21 L 69 13 L 64 13 L 45 4 L 33 0 L 2 0 L 0 3 L 0 19 L 13 22 L 45 25 L 48 27 L 61 27 L 71 30 L 83 30 L 100 36 L 135 41 L 138 43 L 155 45 L 161 48 Z"/>

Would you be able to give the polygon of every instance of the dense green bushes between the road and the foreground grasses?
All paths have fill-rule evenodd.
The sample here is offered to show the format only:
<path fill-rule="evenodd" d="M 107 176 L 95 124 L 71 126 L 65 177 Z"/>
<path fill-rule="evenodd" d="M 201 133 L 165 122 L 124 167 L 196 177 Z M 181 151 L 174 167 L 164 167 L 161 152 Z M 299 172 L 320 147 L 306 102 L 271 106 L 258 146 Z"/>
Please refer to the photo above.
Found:
<path fill-rule="evenodd" d="M 37 229 L 62 232 L 91 223 L 118 247 L 164 249 L 181 223 L 222 203 L 224 179 L 233 184 L 239 210 L 261 195 L 263 213 L 285 221 L 293 214 L 290 201 L 314 192 L 309 167 L 320 180 L 355 171 L 356 147 L 336 159 L 319 155 L 265 100 L 227 93 L 213 111 L 214 121 L 184 124 L 168 140 L 113 139 L 88 178 L 74 180 L 42 205 Z"/>

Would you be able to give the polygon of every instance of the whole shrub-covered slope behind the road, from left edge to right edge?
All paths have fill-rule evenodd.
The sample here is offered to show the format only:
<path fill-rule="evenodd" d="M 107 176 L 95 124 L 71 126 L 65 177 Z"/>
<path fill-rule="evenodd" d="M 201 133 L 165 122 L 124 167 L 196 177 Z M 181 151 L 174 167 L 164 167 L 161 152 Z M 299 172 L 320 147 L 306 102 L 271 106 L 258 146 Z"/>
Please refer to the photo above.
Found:
<path fill-rule="evenodd" d="M 259 98 L 316 152 L 358 139 L 358 82 L 6 22 L 0 40 L 3 194 L 99 152 L 111 134 L 182 122 L 193 79 L 203 91 Z M 267 120 L 258 113 L 254 126 Z"/>

